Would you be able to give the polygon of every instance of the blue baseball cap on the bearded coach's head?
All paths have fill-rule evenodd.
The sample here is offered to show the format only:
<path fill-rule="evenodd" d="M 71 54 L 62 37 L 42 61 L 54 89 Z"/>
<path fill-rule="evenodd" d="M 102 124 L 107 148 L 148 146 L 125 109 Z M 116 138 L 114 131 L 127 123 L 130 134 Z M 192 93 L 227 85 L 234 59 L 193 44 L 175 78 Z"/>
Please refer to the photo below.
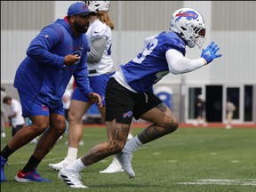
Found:
<path fill-rule="evenodd" d="M 96 15 L 96 12 L 91 12 L 91 10 L 81 2 L 76 2 L 75 4 L 71 4 L 68 8 L 68 16 L 71 15 Z"/>

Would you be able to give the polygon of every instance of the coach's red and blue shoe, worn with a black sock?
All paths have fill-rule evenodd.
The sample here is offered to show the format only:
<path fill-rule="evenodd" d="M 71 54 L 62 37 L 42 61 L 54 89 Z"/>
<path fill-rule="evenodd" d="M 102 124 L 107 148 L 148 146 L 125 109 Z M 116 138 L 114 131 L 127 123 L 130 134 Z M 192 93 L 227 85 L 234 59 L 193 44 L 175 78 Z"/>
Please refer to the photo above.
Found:
<path fill-rule="evenodd" d="M 33 172 L 18 172 L 18 174 L 14 177 L 17 182 L 34 182 L 34 181 L 42 181 L 42 182 L 51 182 L 51 180 L 46 180 L 42 178 L 37 172 L 36 168 L 33 169 Z"/>

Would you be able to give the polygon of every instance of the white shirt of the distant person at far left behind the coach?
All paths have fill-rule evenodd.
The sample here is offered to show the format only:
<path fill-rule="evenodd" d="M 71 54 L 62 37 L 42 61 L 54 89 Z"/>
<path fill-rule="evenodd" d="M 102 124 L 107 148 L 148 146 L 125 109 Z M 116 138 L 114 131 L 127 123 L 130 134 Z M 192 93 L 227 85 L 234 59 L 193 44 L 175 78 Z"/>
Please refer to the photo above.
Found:
<path fill-rule="evenodd" d="M 17 125 L 25 124 L 25 120 L 22 116 L 20 102 L 18 100 L 12 99 L 11 114 L 13 115 L 14 113 L 17 113 L 17 115 L 12 117 L 12 126 L 16 127 Z"/>

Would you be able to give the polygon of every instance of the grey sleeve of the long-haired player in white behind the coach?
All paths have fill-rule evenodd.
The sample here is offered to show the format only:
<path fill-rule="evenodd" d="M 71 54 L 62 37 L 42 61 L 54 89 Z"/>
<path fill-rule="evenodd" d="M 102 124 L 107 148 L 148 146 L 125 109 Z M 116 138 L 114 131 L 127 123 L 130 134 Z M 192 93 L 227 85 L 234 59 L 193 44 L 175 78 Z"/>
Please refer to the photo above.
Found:
<path fill-rule="evenodd" d="M 90 52 L 87 52 L 87 62 L 99 62 L 102 58 L 106 44 L 107 40 L 105 36 L 99 36 L 98 38 L 93 39 L 90 44 Z"/>

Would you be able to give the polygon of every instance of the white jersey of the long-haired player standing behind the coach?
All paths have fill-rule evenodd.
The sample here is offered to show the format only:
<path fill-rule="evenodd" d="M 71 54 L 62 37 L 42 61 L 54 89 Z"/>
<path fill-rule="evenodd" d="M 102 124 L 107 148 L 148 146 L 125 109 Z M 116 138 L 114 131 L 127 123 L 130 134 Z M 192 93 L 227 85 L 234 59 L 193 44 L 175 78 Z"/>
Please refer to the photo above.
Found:
<path fill-rule="evenodd" d="M 88 71 L 95 71 L 95 73 L 92 74 L 88 73 L 88 76 L 100 76 L 110 72 L 114 65 L 113 60 L 111 59 L 111 28 L 109 28 L 106 23 L 102 23 L 97 19 L 90 24 L 90 27 L 86 32 L 86 36 L 88 37 L 89 44 L 91 44 L 93 40 L 102 36 L 107 40 L 101 60 L 97 63 L 87 62 Z"/>

